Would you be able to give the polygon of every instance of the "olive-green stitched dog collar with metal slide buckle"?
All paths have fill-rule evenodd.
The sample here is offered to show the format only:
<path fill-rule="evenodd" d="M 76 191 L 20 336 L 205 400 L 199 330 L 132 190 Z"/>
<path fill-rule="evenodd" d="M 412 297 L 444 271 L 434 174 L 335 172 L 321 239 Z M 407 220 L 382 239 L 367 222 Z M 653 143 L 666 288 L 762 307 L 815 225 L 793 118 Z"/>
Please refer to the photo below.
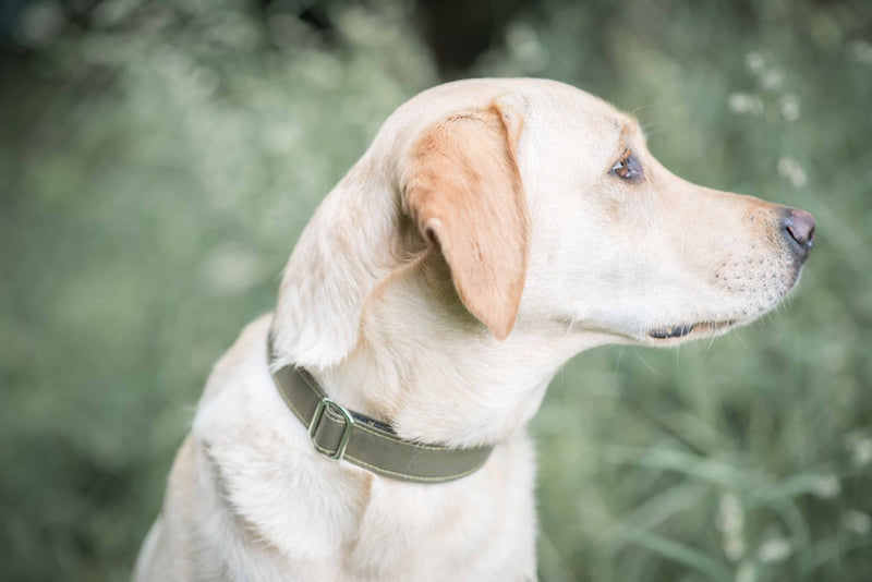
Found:
<path fill-rule="evenodd" d="M 272 342 L 267 342 L 271 362 Z M 276 387 L 304 426 L 315 450 L 377 475 L 414 483 L 445 483 L 470 475 L 487 461 L 493 446 L 456 449 L 405 440 L 365 414 L 327 397 L 304 368 L 288 365 L 272 373 Z"/>

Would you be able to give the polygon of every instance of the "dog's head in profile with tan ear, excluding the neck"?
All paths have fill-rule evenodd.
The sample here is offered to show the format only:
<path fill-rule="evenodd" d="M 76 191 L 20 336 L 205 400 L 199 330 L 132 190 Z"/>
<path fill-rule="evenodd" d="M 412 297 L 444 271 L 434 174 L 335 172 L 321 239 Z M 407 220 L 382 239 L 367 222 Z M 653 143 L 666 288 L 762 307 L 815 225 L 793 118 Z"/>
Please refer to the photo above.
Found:
<path fill-rule="evenodd" d="M 498 339 L 723 334 L 778 304 L 814 240 L 808 213 L 677 178 L 634 119 L 560 83 L 455 83 L 396 117 L 415 128 L 398 154 L 403 209 Z"/>

